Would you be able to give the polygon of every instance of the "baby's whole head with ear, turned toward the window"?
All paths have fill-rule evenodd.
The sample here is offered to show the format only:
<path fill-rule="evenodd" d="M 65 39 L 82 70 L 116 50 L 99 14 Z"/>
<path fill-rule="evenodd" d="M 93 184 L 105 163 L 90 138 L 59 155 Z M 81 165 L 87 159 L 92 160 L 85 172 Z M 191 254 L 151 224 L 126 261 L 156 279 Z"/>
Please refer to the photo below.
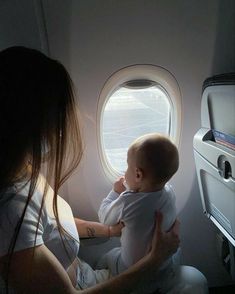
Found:
<path fill-rule="evenodd" d="M 179 167 L 178 150 L 167 137 L 147 134 L 131 144 L 127 164 L 125 178 L 131 190 L 161 189 Z"/>

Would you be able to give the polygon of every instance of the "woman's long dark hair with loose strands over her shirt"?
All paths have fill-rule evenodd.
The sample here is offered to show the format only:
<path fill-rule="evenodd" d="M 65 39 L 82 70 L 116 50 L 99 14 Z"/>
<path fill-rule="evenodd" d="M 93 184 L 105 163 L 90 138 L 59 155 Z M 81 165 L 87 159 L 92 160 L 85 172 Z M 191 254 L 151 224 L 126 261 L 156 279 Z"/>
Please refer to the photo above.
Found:
<path fill-rule="evenodd" d="M 45 161 L 45 146 L 49 150 L 46 179 L 54 189 L 54 215 L 60 233 L 66 233 L 59 221 L 57 194 L 81 160 L 82 141 L 70 76 L 61 63 L 37 50 L 11 47 L 0 52 L 0 103 L 0 197 L 15 182 L 30 183 L 9 248 L 9 270 L 17 236 Z M 47 188 L 46 183 L 38 223 Z"/>

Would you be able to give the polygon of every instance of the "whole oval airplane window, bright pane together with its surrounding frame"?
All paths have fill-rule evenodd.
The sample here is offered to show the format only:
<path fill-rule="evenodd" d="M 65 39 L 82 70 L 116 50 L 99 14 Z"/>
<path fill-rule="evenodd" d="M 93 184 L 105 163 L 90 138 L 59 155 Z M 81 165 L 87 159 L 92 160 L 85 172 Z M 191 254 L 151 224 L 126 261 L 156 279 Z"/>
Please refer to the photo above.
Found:
<path fill-rule="evenodd" d="M 97 113 L 98 150 L 111 181 L 126 170 L 133 140 L 152 132 L 169 135 L 179 146 L 181 94 L 176 79 L 153 65 L 117 71 L 100 93 Z"/>

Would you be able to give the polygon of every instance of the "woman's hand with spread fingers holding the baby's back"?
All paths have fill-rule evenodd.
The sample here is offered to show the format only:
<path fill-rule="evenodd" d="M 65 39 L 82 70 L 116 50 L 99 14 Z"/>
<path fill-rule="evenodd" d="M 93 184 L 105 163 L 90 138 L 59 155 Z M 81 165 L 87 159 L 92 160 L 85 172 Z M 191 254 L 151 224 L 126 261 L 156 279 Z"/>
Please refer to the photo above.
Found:
<path fill-rule="evenodd" d="M 156 226 L 154 236 L 152 240 L 150 256 L 154 260 L 165 261 L 173 253 L 175 253 L 179 247 L 179 225 L 180 222 L 176 219 L 174 225 L 168 232 L 162 231 L 163 215 L 161 212 L 157 212 Z"/>

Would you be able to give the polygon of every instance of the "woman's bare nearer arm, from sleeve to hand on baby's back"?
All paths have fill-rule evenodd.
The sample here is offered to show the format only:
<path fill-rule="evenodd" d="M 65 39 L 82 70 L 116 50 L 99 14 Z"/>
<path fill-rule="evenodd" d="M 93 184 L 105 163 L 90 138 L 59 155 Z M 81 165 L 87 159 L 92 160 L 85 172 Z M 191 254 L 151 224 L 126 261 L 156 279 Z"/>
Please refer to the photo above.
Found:
<path fill-rule="evenodd" d="M 102 284 L 82 291 L 74 289 L 68 274 L 45 245 L 13 254 L 9 283 L 16 293 L 25 294 L 131 293 L 147 284 L 151 275 L 178 248 L 179 224 L 176 223 L 170 232 L 165 233 L 161 231 L 161 214 L 158 214 L 157 220 L 151 251 L 127 271 Z"/>

